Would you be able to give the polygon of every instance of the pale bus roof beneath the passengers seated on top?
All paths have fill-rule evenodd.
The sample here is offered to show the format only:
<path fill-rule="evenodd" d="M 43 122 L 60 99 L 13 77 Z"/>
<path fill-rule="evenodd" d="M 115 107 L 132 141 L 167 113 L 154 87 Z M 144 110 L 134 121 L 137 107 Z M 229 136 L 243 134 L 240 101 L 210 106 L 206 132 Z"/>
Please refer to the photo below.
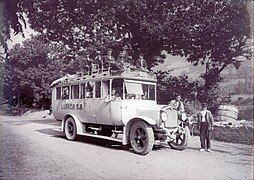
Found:
<path fill-rule="evenodd" d="M 77 72 L 76 74 L 69 75 L 59 78 L 51 83 L 51 87 L 56 85 L 66 85 L 66 84 L 76 84 L 86 81 L 101 81 L 107 79 L 128 79 L 144 82 L 154 82 L 156 83 L 156 78 L 154 74 L 149 71 L 143 71 L 139 69 L 129 69 L 124 71 L 105 71 L 100 73 L 92 73 L 91 75 L 85 74 L 83 72 Z"/>

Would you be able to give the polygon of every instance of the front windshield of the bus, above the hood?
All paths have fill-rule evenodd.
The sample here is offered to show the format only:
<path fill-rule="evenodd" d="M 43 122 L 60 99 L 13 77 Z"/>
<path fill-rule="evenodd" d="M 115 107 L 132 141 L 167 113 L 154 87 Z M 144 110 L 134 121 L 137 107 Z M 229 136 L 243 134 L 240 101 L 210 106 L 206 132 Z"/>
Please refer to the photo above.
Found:
<path fill-rule="evenodd" d="M 125 99 L 155 100 L 155 85 L 125 82 Z"/>

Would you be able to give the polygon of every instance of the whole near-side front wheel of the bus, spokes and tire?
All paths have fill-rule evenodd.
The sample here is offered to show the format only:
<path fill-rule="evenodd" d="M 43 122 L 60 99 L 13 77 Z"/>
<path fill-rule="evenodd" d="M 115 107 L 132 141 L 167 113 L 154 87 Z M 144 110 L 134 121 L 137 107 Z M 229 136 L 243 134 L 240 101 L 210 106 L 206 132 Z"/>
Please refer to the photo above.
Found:
<path fill-rule="evenodd" d="M 137 154 L 148 154 L 154 145 L 153 129 L 143 121 L 133 124 L 130 131 L 130 143 Z"/>

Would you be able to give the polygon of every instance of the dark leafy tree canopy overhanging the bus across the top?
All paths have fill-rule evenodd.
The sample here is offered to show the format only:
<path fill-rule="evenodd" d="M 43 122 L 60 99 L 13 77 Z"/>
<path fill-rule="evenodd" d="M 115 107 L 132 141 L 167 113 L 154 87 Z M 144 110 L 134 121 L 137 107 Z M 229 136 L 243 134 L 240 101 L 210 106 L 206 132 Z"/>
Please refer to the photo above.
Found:
<path fill-rule="evenodd" d="M 205 65 L 203 98 L 230 64 L 250 59 L 251 1 L 242 0 L 69 0 L 5 1 L 5 37 L 22 33 L 23 14 L 48 39 L 63 42 L 73 56 L 84 49 L 128 44 L 134 58 L 145 54 L 149 68 L 164 52 Z M 204 99 L 206 101 L 207 99 Z"/>

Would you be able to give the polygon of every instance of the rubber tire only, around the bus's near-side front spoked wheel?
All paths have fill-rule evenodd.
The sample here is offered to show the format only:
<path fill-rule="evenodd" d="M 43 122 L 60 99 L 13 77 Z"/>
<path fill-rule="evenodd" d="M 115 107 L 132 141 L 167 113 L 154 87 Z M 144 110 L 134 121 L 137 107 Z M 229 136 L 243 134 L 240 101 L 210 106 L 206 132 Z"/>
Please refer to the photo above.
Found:
<path fill-rule="evenodd" d="M 146 144 L 144 145 L 143 148 L 139 149 L 136 147 L 137 143 L 134 139 L 134 134 L 136 129 L 138 128 L 142 128 L 142 130 L 146 133 Z M 148 154 L 154 145 L 154 133 L 153 133 L 153 129 L 145 122 L 143 121 L 137 121 L 135 122 L 130 130 L 130 144 L 131 147 L 133 148 L 134 153 L 136 154 L 140 154 L 140 155 L 146 155 Z"/>

